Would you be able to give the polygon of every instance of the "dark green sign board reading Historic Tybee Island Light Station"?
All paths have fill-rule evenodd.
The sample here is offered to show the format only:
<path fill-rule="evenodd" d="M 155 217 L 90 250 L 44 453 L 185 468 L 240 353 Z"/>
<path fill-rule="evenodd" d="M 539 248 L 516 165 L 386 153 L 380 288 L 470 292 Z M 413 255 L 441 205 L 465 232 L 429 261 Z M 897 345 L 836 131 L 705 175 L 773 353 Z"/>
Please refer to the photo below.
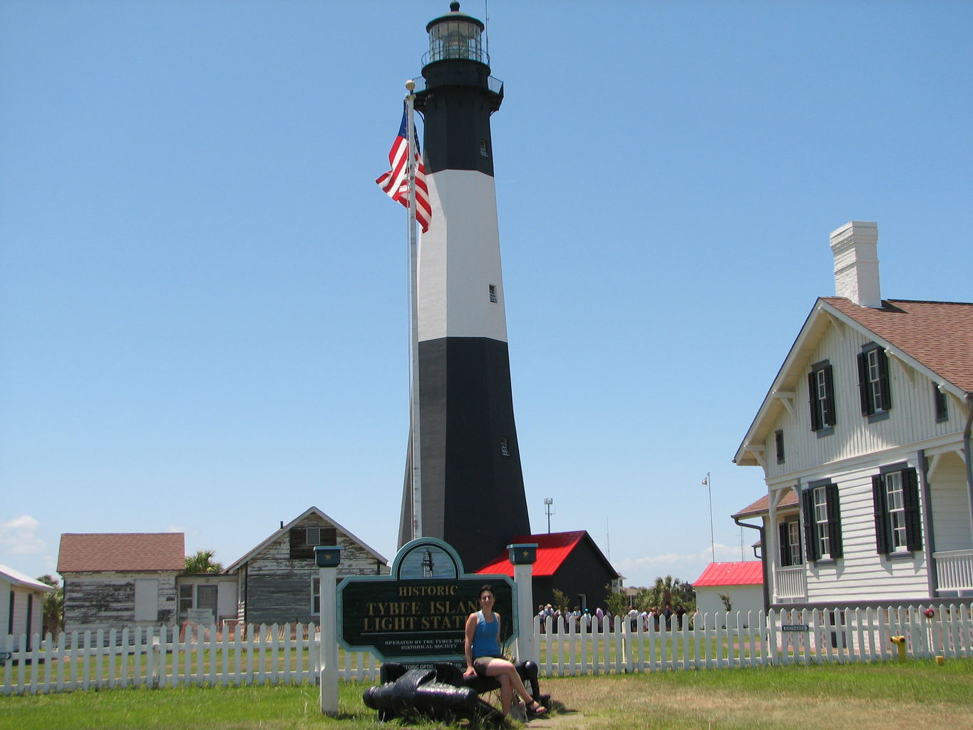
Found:
<path fill-rule="evenodd" d="M 349 651 L 382 661 L 435 662 L 463 655 L 466 618 L 493 587 L 501 641 L 517 636 L 516 586 L 506 575 L 463 572 L 456 551 L 435 537 L 402 546 L 390 575 L 349 575 L 338 586 L 338 637 Z"/>

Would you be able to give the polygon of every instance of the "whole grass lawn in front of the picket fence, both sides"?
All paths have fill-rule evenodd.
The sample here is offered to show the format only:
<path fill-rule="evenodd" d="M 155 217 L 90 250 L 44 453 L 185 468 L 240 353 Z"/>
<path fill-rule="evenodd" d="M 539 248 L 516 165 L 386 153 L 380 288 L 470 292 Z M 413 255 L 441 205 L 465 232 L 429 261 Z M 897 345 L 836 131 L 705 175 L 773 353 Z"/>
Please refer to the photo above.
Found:
<path fill-rule="evenodd" d="M 0 697 L 0 728 L 283 730 L 381 727 L 361 702 L 367 683 L 341 685 L 341 714 L 318 712 L 316 687 L 114 689 Z M 570 730 L 973 730 L 973 660 L 759 667 L 542 679 L 554 716 L 531 728 Z M 390 729 L 399 723 L 385 725 Z M 442 724 L 408 725 L 438 728 Z"/>

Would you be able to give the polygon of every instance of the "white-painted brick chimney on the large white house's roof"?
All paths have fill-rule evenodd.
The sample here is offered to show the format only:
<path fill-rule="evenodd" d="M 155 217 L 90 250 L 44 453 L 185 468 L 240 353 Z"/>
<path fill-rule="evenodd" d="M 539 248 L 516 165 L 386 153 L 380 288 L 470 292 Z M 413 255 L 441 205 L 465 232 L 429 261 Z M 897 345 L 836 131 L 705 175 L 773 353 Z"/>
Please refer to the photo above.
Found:
<path fill-rule="evenodd" d="M 835 295 L 861 307 L 882 307 L 879 285 L 879 225 L 851 221 L 831 234 Z"/>

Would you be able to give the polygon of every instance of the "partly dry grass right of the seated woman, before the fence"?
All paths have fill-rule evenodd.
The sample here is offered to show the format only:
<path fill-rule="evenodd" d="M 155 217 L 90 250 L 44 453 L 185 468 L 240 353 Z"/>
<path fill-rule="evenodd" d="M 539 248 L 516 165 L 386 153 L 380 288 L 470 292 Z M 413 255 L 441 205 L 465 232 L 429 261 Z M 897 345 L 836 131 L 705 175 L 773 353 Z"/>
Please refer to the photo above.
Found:
<path fill-rule="evenodd" d="M 930 666 L 860 665 L 553 678 L 544 691 L 563 730 L 887 730 L 905 719 L 973 730 L 969 663 L 939 676 Z"/>

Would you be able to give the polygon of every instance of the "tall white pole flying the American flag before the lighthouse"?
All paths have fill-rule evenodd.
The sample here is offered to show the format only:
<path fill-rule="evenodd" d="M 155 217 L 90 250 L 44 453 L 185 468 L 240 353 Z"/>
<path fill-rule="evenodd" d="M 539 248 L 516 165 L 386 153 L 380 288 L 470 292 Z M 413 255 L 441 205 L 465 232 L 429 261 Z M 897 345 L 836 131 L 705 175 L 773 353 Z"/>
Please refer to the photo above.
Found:
<path fill-rule="evenodd" d="M 422 450 L 419 439 L 419 327 L 418 327 L 418 254 L 415 237 L 415 124 L 414 124 L 414 103 L 415 103 L 415 82 L 410 79 L 406 82 L 406 118 L 409 158 L 409 289 L 410 289 L 410 310 L 412 318 L 411 333 L 409 338 L 409 369 L 412 375 L 409 388 L 409 417 L 412 430 L 412 455 L 413 464 L 413 539 L 422 536 Z"/>

